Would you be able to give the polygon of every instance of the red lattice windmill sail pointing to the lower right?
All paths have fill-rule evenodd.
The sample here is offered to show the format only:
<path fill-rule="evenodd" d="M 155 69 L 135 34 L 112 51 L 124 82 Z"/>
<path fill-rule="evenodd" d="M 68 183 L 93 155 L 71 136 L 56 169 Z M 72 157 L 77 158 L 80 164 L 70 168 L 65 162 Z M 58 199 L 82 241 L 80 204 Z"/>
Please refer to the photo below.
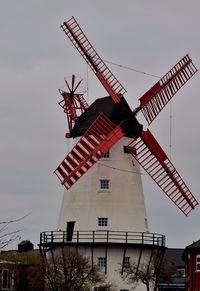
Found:
<path fill-rule="evenodd" d="M 198 205 L 197 200 L 149 130 L 143 131 L 140 138 L 129 144 L 127 149 L 185 215 Z"/>

